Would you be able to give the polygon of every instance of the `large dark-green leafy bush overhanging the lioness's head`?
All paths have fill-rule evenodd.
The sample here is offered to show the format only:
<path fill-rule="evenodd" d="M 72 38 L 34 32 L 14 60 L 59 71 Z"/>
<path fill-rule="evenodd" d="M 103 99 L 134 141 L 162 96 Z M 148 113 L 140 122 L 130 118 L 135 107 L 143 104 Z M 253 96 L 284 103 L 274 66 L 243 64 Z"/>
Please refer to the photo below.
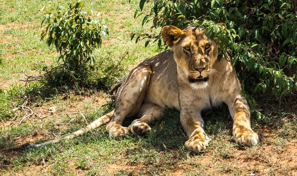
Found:
<path fill-rule="evenodd" d="M 140 0 L 135 17 L 142 25 L 205 29 L 221 41 L 222 54 L 233 57 L 245 91 L 283 94 L 297 90 L 297 6 L 294 0 Z M 221 24 L 224 23 L 225 25 Z M 160 29 L 160 28 L 159 28 Z M 151 30 L 153 31 L 153 30 Z M 160 30 L 159 30 L 160 32 Z M 137 40 L 158 41 L 160 33 Z M 146 44 L 147 44 L 146 43 Z"/>

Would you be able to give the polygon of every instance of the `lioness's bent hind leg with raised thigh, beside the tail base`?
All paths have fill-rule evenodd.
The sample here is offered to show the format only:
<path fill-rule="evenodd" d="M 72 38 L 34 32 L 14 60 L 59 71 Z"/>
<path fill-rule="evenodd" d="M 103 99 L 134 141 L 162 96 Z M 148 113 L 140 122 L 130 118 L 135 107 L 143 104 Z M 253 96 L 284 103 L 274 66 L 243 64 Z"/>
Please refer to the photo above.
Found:
<path fill-rule="evenodd" d="M 126 116 L 133 116 L 139 111 L 148 88 L 151 73 L 149 66 L 139 66 L 133 69 L 125 78 L 116 95 L 112 120 L 106 127 L 109 136 L 117 137 L 129 132 L 129 129 L 123 127 L 122 123 Z"/>

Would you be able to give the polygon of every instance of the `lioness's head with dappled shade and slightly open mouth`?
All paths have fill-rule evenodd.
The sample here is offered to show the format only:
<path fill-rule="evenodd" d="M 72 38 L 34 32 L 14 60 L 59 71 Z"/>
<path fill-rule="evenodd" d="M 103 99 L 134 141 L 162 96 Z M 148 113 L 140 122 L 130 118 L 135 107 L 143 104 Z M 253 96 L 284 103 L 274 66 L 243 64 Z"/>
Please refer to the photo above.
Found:
<path fill-rule="evenodd" d="M 199 27 L 180 30 L 175 26 L 165 26 L 161 35 L 174 52 L 174 59 L 191 86 L 206 88 L 218 56 L 217 42 L 209 40 Z"/>

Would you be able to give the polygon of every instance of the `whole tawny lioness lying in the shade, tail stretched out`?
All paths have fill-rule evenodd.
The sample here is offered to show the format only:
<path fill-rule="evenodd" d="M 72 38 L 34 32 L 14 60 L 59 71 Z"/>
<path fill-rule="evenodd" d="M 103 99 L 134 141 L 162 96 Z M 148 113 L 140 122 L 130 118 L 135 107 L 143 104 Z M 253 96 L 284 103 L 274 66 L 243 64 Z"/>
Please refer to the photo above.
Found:
<path fill-rule="evenodd" d="M 38 147 L 61 139 L 73 138 L 100 125 L 111 137 L 128 134 L 143 135 L 150 131 L 148 124 L 159 119 L 165 107 L 180 110 L 180 120 L 189 138 L 185 146 L 199 152 L 210 140 L 203 131 L 201 110 L 225 102 L 234 120 L 232 138 L 239 144 L 256 145 L 258 135 L 250 127 L 247 101 L 230 58 L 217 59 L 218 44 L 207 39 L 198 27 L 180 30 L 165 26 L 161 35 L 171 47 L 148 58 L 131 70 L 115 97 L 114 111 L 100 117 L 72 134 L 50 140 Z M 125 117 L 140 117 L 129 127 L 123 127 Z"/>

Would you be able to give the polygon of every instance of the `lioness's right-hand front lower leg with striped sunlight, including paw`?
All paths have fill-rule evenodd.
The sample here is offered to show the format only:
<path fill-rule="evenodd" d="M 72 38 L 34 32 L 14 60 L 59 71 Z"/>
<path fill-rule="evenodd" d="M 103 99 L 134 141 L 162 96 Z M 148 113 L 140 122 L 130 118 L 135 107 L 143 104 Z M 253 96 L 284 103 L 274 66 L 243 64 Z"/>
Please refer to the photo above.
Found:
<path fill-rule="evenodd" d="M 256 145 L 258 143 L 258 135 L 250 127 L 250 113 L 246 98 L 237 95 L 226 103 L 234 120 L 232 138 L 242 145 Z"/>

